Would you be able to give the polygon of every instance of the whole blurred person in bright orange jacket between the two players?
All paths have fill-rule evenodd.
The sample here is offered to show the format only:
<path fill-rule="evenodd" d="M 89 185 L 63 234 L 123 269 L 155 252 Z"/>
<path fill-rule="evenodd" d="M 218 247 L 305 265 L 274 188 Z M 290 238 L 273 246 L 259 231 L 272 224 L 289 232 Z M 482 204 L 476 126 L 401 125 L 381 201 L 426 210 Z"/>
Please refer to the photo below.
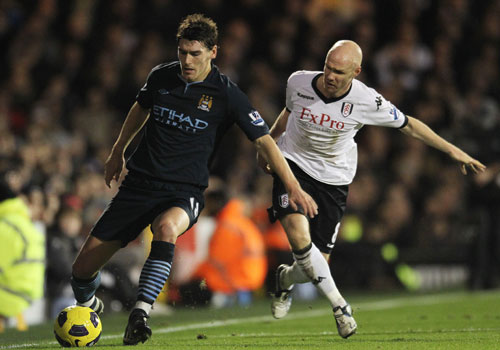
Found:
<path fill-rule="evenodd" d="M 195 273 L 212 292 L 213 307 L 248 306 L 267 273 L 264 238 L 250 220 L 250 203 L 229 199 L 224 188 L 206 194 L 215 211 L 216 226 L 208 257 Z"/>

